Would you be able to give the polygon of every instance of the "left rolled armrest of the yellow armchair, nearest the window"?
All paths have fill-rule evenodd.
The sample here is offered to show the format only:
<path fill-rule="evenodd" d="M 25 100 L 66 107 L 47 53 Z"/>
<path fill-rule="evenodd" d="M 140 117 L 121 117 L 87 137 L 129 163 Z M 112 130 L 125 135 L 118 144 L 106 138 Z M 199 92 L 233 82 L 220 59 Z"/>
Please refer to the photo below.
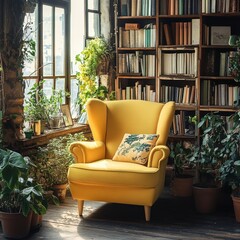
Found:
<path fill-rule="evenodd" d="M 94 162 L 105 157 L 105 144 L 101 141 L 77 141 L 71 143 L 69 151 L 76 162 Z"/>

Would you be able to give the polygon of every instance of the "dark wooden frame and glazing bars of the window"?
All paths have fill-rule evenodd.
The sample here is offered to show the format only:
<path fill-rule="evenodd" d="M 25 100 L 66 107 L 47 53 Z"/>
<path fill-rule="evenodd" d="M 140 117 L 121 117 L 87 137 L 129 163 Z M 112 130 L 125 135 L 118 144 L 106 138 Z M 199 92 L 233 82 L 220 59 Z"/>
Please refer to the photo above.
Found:
<path fill-rule="evenodd" d="M 81 0 L 82 1 L 82 0 Z M 99 14 L 99 22 L 98 22 L 98 29 L 99 29 L 99 35 L 101 35 L 101 3 L 100 0 L 97 0 L 97 10 L 94 9 L 89 9 L 89 4 L 88 0 L 83 0 L 84 1 L 84 7 L 85 7 L 85 32 L 84 32 L 84 45 L 87 45 L 87 42 L 91 39 L 94 39 L 95 37 L 89 36 L 89 24 L 88 24 L 88 18 L 90 13 L 94 14 Z M 65 14 L 65 44 L 64 44 L 64 70 L 65 74 L 62 76 L 57 75 L 55 73 L 55 44 L 54 44 L 54 30 L 53 30 L 53 41 L 52 41 L 52 47 L 53 49 L 51 50 L 53 55 L 53 74 L 51 76 L 44 76 L 43 75 L 43 24 L 41 22 L 43 21 L 43 6 L 51 6 L 53 8 L 60 7 L 64 9 L 64 14 Z M 53 79 L 53 87 L 55 89 L 56 87 L 56 79 L 59 77 L 63 77 L 65 79 L 65 91 L 69 92 L 71 94 L 72 89 L 71 89 L 71 83 L 73 79 L 76 79 L 76 73 L 71 73 L 71 1 L 70 0 L 39 0 L 38 1 L 38 6 L 37 6 L 37 16 L 36 16 L 36 21 L 37 21 L 37 26 L 38 26 L 38 33 L 37 33 L 37 42 L 36 42 L 36 75 L 31 75 L 31 76 L 23 76 L 24 80 L 28 81 L 34 81 L 34 83 L 39 83 L 42 79 Z M 54 16 L 53 16 L 54 20 Z M 53 28 L 54 28 L 54 21 L 53 21 Z M 71 103 L 74 102 L 74 99 L 65 98 L 65 103 L 69 104 L 71 106 Z"/>

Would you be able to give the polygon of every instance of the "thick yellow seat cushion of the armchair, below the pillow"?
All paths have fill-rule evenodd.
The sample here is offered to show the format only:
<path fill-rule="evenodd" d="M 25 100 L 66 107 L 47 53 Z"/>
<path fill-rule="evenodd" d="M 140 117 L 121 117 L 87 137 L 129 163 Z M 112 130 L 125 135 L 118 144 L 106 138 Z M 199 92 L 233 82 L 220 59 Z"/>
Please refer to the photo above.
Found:
<path fill-rule="evenodd" d="M 72 164 L 68 178 L 72 183 L 85 185 L 154 188 L 159 185 L 159 169 L 103 159 Z"/>

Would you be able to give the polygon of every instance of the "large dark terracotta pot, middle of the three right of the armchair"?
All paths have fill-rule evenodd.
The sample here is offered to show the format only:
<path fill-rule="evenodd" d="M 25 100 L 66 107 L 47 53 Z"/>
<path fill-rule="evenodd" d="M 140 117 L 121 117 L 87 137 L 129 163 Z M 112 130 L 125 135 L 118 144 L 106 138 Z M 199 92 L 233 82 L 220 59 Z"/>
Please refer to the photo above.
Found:
<path fill-rule="evenodd" d="M 219 187 L 193 185 L 195 208 L 199 213 L 212 213 L 218 205 Z"/>

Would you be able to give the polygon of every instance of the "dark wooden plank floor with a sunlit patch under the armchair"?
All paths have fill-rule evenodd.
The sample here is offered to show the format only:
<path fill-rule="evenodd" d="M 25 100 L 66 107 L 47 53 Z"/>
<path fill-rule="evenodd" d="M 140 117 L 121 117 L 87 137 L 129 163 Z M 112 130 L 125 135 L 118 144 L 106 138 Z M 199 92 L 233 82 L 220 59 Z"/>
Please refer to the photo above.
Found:
<path fill-rule="evenodd" d="M 40 230 L 27 239 L 240 239 L 240 223 L 230 198 L 216 213 L 202 215 L 195 212 L 192 198 L 174 198 L 166 189 L 152 207 L 149 223 L 143 207 L 102 202 L 86 202 L 79 218 L 76 202 L 67 197 L 60 206 L 50 205 Z"/>

